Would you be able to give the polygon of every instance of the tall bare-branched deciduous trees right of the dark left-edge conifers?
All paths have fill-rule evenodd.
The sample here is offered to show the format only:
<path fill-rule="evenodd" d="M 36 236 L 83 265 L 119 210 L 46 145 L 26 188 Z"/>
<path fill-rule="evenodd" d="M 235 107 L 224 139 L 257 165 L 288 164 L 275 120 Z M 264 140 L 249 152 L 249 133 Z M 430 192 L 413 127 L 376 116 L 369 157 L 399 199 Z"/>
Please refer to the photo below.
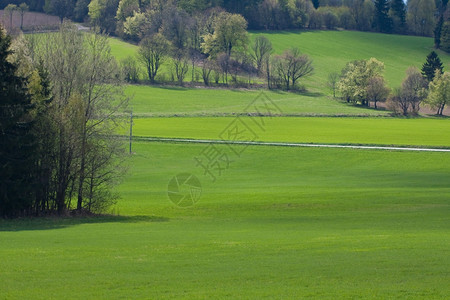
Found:
<path fill-rule="evenodd" d="M 118 175 L 114 166 L 123 152 L 110 138 L 118 124 L 116 114 L 128 100 L 119 68 L 106 36 L 83 35 L 70 24 L 45 36 L 40 46 L 54 95 L 54 203 L 59 213 L 72 207 L 72 199 L 78 211 L 90 210 L 91 195 L 109 190 L 110 180 Z"/>

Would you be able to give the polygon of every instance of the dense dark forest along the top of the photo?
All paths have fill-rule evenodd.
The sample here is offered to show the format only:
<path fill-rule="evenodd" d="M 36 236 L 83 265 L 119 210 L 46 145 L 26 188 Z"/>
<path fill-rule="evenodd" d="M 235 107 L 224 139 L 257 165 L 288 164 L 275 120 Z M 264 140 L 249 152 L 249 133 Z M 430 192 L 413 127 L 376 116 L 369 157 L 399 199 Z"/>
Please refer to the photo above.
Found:
<path fill-rule="evenodd" d="M 0 7 L 15 3 L 0 1 Z M 19 0 L 17 0 L 19 1 Z M 250 29 L 345 29 L 431 36 L 440 35 L 447 0 L 27 0 L 32 10 L 62 19 L 90 19 L 110 33 L 121 34 L 124 23 L 144 18 L 151 25 L 185 16 L 202 19 L 211 9 L 242 15 Z M 175 7 L 178 12 L 166 10 Z M 132 18 L 128 20 L 127 18 Z"/>

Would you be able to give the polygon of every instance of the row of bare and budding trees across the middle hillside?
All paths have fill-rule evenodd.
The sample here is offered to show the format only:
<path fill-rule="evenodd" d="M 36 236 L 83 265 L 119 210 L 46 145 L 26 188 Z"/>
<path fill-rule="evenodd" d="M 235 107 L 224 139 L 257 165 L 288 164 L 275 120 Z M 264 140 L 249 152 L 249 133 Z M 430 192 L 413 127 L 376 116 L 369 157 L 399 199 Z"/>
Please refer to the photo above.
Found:
<path fill-rule="evenodd" d="M 296 89 L 299 79 L 313 72 L 311 59 L 298 49 L 273 55 L 272 44 L 264 36 L 250 45 L 247 22 L 238 14 L 215 11 L 200 30 L 191 31 L 188 26 L 171 28 L 156 27 L 139 43 L 139 60 L 152 83 L 164 81 L 158 72 L 168 61 L 170 80 L 179 84 L 183 84 L 190 70 L 192 82 L 201 77 L 205 85 L 219 84 L 220 80 L 225 85 L 230 80 L 234 85 L 248 85 L 252 78 L 260 77 L 267 80 L 269 88 L 289 90 Z M 138 65 L 132 58 L 122 62 L 128 81 L 139 79 Z"/>

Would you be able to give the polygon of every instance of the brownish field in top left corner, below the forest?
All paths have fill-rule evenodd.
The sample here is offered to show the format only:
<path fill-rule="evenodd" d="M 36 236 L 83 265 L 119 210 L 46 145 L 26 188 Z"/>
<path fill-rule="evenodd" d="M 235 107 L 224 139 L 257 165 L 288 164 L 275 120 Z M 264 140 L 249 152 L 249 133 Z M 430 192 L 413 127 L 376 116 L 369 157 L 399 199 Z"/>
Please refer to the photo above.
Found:
<path fill-rule="evenodd" d="M 14 12 L 12 18 L 13 29 L 20 28 L 20 19 L 20 13 Z M 0 23 L 2 23 L 5 28 L 11 29 L 9 15 L 5 14 L 3 10 L 0 10 Z M 24 31 L 55 29 L 59 26 L 59 24 L 60 22 L 58 17 L 43 13 L 26 12 L 23 17 Z"/>

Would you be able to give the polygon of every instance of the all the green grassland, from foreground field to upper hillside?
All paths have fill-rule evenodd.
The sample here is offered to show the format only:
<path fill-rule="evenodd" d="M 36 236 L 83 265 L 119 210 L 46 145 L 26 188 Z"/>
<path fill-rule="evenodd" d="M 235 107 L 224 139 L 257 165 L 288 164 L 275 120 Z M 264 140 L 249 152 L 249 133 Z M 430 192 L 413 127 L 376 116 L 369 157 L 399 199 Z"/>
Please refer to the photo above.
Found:
<path fill-rule="evenodd" d="M 239 115 L 247 124 L 264 121 L 259 141 L 450 148 L 448 118 L 390 118 L 335 100 L 325 87 L 328 73 L 370 57 L 384 61 L 389 85 L 397 86 L 408 66 L 425 61 L 432 39 L 264 34 L 276 53 L 298 46 L 316 68 L 302 82 L 307 93 L 265 92 L 279 116 L 243 115 L 256 90 L 133 85 L 126 93 L 134 96 L 134 135 L 221 139 Z M 111 46 L 118 59 L 136 55 L 135 45 L 111 39 Z M 448 68 L 450 56 L 439 55 Z M 213 181 L 195 160 L 208 147 L 133 142 L 110 215 L 0 219 L 0 298 L 450 295 L 450 153 L 233 146 L 237 156 L 215 145 L 227 160 L 210 170 Z M 168 183 L 186 172 L 199 178 L 202 195 L 180 208 Z"/>

